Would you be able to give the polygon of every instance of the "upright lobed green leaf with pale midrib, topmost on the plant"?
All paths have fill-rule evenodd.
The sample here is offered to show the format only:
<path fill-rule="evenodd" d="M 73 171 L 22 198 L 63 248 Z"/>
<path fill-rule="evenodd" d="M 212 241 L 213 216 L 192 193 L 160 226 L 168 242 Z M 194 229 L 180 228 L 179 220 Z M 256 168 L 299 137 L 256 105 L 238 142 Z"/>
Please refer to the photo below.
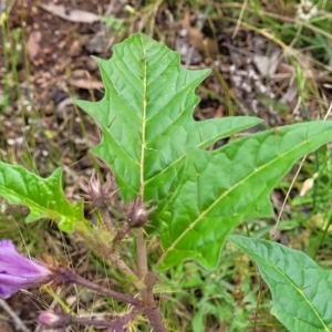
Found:
<path fill-rule="evenodd" d="M 125 201 L 141 195 L 160 203 L 176 186 L 189 148 L 206 148 L 261 122 L 195 122 L 195 89 L 210 71 L 184 69 L 177 52 L 147 35 L 135 34 L 115 45 L 111 60 L 95 60 L 105 95 L 97 103 L 74 103 L 101 127 L 102 142 L 92 152 L 114 170 Z"/>

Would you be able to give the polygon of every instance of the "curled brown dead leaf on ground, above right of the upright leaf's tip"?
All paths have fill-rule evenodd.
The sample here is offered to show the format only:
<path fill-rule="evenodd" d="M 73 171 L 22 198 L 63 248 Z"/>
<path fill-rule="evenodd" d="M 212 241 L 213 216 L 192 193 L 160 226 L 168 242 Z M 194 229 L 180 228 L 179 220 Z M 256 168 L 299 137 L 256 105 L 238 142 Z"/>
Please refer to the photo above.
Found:
<path fill-rule="evenodd" d="M 217 53 L 216 43 L 212 39 L 204 35 L 201 31 L 190 25 L 190 14 L 188 11 L 185 12 L 181 25 L 188 31 L 189 43 L 199 52 L 215 55 Z"/>

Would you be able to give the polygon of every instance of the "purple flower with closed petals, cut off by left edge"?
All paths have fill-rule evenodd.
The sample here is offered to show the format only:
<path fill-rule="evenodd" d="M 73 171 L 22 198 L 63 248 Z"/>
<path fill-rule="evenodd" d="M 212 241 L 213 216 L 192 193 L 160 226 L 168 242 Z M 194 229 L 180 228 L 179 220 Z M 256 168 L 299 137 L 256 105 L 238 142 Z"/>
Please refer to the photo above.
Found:
<path fill-rule="evenodd" d="M 52 272 L 46 267 L 21 256 L 10 240 L 0 241 L 0 298 L 7 299 L 22 288 L 51 279 Z"/>

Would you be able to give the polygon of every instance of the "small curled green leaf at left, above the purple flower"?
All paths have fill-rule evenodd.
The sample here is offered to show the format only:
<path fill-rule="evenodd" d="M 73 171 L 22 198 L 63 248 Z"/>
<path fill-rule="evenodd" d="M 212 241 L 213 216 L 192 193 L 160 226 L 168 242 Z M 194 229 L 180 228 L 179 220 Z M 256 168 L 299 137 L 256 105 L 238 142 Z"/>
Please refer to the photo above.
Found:
<path fill-rule="evenodd" d="M 72 231 L 75 222 L 89 222 L 83 216 L 83 204 L 71 204 L 62 191 L 62 169 L 41 178 L 22 166 L 0 162 L 0 196 L 9 204 L 29 207 L 25 222 L 50 218 L 63 231 Z"/>

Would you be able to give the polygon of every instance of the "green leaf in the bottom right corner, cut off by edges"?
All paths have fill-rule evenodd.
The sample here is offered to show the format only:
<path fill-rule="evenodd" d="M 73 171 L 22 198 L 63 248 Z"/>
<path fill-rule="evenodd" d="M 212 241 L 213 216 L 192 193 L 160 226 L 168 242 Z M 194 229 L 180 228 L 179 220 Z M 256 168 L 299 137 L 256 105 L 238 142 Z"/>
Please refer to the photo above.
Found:
<path fill-rule="evenodd" d="M 332 331 L 332 272 L 276 242 L 229 236 L 257 264 L 273 299 L 271 313 L 292 332 Z"/>

